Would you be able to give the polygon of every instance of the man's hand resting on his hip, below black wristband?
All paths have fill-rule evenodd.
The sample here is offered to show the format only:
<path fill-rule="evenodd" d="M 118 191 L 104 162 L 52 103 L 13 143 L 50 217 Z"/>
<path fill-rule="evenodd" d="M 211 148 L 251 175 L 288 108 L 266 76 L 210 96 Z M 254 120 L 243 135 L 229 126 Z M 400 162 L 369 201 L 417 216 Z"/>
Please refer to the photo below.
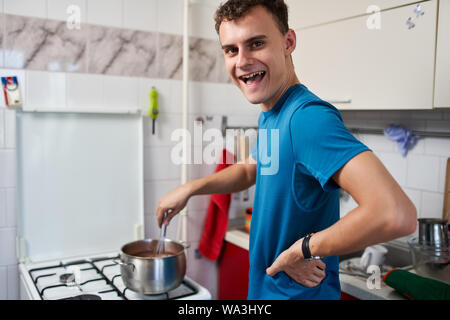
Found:
<path fill-rule="evenodd" d="M 294 281 L 312 288 L 319 285 L 325 278 L 325 263 L 322 260 L 306 261 L 302 254 L 303 239 L 295 242 L 290 248 L 283 251 L 274 263 L 266 269 L 266 273 L 273 277 L 284 271 Z"/>

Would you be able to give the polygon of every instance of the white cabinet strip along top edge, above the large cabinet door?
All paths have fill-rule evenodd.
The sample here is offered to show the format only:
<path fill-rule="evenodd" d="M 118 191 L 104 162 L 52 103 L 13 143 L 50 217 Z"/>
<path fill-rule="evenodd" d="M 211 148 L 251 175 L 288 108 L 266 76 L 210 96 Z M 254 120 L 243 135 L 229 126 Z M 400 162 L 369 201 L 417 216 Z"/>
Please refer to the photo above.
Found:
<path fill-rule="evenodd" d="M 305 28 L 413 3 L 413 0 L 286 0 L 289 26 Z M 366 17 L 367 19 L 367 17 Z"/>

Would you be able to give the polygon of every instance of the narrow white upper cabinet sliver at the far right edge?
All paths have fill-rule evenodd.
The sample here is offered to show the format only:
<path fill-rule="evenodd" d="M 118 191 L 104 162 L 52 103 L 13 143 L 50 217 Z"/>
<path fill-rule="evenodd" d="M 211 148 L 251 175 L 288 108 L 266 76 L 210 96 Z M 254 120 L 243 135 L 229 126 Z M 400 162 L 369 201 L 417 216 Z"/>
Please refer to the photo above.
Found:
<path fill-rule="evenodd" d="M 450 0 L 439 1 L 434 106 L 450 108 Z"/>

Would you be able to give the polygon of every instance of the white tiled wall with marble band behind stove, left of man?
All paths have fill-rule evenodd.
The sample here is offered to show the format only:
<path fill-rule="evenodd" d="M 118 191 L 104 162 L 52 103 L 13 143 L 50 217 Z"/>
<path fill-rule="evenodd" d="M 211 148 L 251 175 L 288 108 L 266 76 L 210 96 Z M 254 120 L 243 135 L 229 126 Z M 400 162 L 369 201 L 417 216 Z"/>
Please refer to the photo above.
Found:
<path fill-rule="evenodd" d="M 206 120 L 206 127 L 219 128 L 220 116 L 227 115 L 230 125 L 253 126 L 259 109 L 228 80 L 212 19 L 214 2 L 191 7 L 189 123 L 209 116 L 214 120 Z M 81 9 L 78 33 L 64 26 L 69 5 Z M 145 234 L 159 234 L 157 201 L 179 185 L 181 172 L 170 161 L 170 134 L 182 118 L 183 1 L 0 0 L 0 8 L 0 74 L 18 76 L 24 106 L 138 106 L 144 111 Z M 159 92 L 161 112 L 155 135 L 147 115 L 152 86 Z M 16 299 L 15 111 L 0 100 L 0 299 Z M 189 179 L 214 170 L 190 166 Z M 216 297 L 217 266 L 195 254 L 208 201 L 199 196 L 189 203 L 187 273 Z M 175 219 L 169 236 L 175 236 L 176 226 Z"/>

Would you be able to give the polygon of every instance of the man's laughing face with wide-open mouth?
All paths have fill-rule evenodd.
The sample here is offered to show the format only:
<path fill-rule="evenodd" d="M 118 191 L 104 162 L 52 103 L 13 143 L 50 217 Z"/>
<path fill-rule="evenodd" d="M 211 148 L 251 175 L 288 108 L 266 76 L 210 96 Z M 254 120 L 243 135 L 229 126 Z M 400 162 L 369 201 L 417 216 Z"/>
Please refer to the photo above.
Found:
<path fill-rule="evenodd" d="M 270 110 L 298 79 L 290 58 L 293 30 L 280 32 L 273 15 L 262 6 L 243 17 L 223 21 L 219 29 L 225 64 L 233 82 L 250 103 Z"/>

